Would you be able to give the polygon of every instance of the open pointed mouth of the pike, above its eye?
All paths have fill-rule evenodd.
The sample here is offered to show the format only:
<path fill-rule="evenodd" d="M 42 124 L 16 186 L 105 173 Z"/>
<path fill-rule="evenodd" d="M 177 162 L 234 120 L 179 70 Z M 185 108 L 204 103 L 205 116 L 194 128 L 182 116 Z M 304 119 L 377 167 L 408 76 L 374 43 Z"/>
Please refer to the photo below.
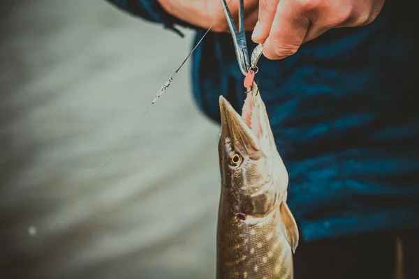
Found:
<path fill-rule="evenodd" d="M 253 92 L 247 93 L 244 100 L 242 115 L 238 114 L 228 100 L 223 96 L 219 97 L 221 113 L 221 136 L 231 137 L 233 146 L 241 146 L 243 151 L 258 151 L 260 137 L 259 105 L 260 96 Z"/>

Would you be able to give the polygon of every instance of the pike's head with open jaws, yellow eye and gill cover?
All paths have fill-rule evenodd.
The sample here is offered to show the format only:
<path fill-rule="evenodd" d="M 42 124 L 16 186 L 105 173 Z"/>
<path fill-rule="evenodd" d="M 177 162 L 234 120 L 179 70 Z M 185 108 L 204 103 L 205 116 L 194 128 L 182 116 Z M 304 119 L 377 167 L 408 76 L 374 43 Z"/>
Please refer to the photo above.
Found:
<path fill-rule="evenodd" d="M 286 199 L 288 173 L 277 151 L 265 104 L 255 83 L 242 115 L 220 96 L 221 184 L 231 193 L 232 210 L 243 216 L 264 216 Z"/>

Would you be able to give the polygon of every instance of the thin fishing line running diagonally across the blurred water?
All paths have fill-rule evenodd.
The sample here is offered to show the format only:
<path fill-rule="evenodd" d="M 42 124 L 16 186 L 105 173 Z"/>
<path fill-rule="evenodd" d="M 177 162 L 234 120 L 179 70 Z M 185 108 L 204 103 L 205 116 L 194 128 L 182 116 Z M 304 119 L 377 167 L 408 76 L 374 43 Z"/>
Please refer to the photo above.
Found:
<path fill-rule="evenodd" d="M 200 38 L 200 40 L 195 45 L 195 47 L 193 47 L 193 49 L 191 50 L 191 52 L 189 52 L 188 56 L 186 56 L 186 59 L 184 59 L 184 61 L 180 64 L 179 68 L 177 68 L 177 70 L 175 70 L 175 73 L 173 73 L 170 76 L 169 80 L 166 82 L 166 84 L 164 84 L 161 87 L 160 91 L 158 93 L 156 93 L 156 95 L 154 95 L 154 98 L 152 100 L 152 103 L 149 105 L 149 107 L 147 107 L 147 109 L 145 110 L 145 112 L 140 116 L 140 118 L 138 119 L 138 121 L 133 126 L 132 133 L 135 130 L 135 128 L 137 128 L 138 124 L 144 118 L 145 114 L 147 114 L 147 112 L 152 107 L 152 105 L 154 105 L 154 103 L 156 103 L 156 100 L 164 93 L 164 91 L 166 91 L 166 89 L 168 89 L 168 87 L 170 86 L 170 84 L 172 83 L 172 81 L 174 80 L 174 78 L 176 77 L 177 73 L 179 72 L 180 68 L 182 68 L 182 66 L 184 66 L 184 63 L 186 63 L 186 61 L 189 59 L 189 57 L 192 55 L 192 53 L 196 50 L 196 47 L 198 47 L 198 45 L 200 45 L 200 43 L 203 41 L 203 39 L 205 38 L 205 36 L 207 36 L 207 33 L 210 32 L 210 30 L 212 29 L 212 27 L 214 26 L 214 24 L 216 23 L 216 21 L 219 20 L 219 17 L 221 17 L 221 15 L 223 14 L 224 10 L 226 10 L 226 8 L 228 7 L 228 5 L 230 4 L 231 1 L 233 1 L 233 0 L 228 1 L 227 5 L 223 8 L 223 10 L 221 10 L 221 13 L 219 13 L 219 15 L 216 17 L 216 19 L 214 20 L 214 22 L 212 22 L 210 28 L 207 29 L 207 31 L 204 33 L 203 37 Z M 96 174 L 94 175 L 94 177 L 91 180 L 91 182 L 84 188 L 82 194 L 84 194 L 87 191 L 87 189 L 89 189 L 90 186 L 93 185 L 93 183 L 96 181 L 96 179 L 98 179 L 99 174 L 101 174 L 102 170 L 110 162 L 110 159 L 112 159 L 112 157 L 115 155 L 115 153 L 117 153 L 117 151 L 122 146 L 122 144 L 124 144 L 124 142 L 126 141 L 126 139 L 128 139 L 128 137 L 130 137 L 130 135 L 131 135 L 131 133 L 128 133 L 128 135 L 126 135 L 124 137 L 124 139 L 122 139 L 122 141 L 119 142 L 119 144 L 117 144 L 117 146 L 112 150 L 112 152 L 110 153 L 110 155 L 108 156 L 108 158 L 105 160 L 105 162 L 103 163 L 103 165 L 101 165 L 101 167 L 98 169 L 98 172 L 96 172 Z M 79 197 L 73 203 L 73 205 L 70 207 L 70 209 L 68 209 L 68 211 L 66 211 L 66 213 L 64 213 L 64 215 L 59 219 L 59 221 L 57 222 L 57 224 L 54 226 L 54 228 L 52 230 L 55 230 L 59 226 L 59 224 L 61 224 L 62 220 L 64 220 L 64 218 L 68 215 L 68 213 L 70 213 L 71 209 L 73 209 L 73 207 L 75 206 L 75 204 L 77 204 L 80 199 L 81 199 L 81 197 Z"/>

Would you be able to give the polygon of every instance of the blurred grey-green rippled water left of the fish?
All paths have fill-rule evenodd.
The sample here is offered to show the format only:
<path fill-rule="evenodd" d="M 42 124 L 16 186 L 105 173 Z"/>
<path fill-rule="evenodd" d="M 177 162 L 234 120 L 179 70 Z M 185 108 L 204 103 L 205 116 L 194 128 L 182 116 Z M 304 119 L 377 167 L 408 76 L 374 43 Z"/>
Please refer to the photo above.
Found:
<path fill-rule="evenodd" d="M 219 128 L 189 63 L 134 128 L 192 33 L 98 0 L 0 13 L 0 278 L 214 278 Z"/>

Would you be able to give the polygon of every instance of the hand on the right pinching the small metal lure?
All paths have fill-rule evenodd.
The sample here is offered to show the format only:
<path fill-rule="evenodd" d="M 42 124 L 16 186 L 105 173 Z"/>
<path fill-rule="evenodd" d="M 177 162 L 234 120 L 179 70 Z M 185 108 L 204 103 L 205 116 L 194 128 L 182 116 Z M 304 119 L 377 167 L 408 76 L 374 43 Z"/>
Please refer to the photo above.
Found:
<path fill-rule="evenodd" d="M 260 0 L 252 40 L 263 43 L 263 54 L 268 59 L 283 59 L 329 29 L 373 22 L 384 1 Z"/>

